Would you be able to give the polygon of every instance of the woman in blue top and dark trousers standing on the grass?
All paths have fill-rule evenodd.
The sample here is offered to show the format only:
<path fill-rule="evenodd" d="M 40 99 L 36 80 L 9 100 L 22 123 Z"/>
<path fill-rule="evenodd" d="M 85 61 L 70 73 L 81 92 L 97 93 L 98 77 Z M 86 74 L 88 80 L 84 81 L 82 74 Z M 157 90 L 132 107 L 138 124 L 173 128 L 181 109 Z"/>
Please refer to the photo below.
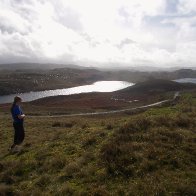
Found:
<path fill-rule="evenodd" d="M 14 98 L 14 102 L 11 107 L 11 114 L 13 118 L 13 127 L 14 127 L 14 143 L 11 146 L 11 150 L 15 148 L 16 145 L 22 144 L 25 131 L 24 131 L 24 118 L 25 114 L 23 114 L 22 109 L 20 107 L 22 99 L 18 96 Z"/>

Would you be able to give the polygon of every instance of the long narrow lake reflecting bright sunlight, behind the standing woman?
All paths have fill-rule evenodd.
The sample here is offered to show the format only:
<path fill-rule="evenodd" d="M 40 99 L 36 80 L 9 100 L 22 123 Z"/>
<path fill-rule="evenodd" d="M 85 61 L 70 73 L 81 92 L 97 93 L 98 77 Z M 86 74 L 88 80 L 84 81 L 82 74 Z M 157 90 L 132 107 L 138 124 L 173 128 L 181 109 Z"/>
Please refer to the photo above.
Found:
<path fill-rule="evenodd" d="M 24 102 L 28 102 L 44 97 L 58 96 L 58 95 L 73 95 L 73 94 L 90 93 L 90 92 L 114 92 L 117 90 L 127 88 L 132 85 L 134 85 L 134 83 L 129 83 L 125 81 L 98 81 L 91 85 L 77 86 L 73 88 L 45 90 L 45 91 L 38 91 L 38 92 L 28 92 L 28 93 L 0 96 L 0 104 L 13 102 L 13 99 L 16 95 L 20 96 Z"/>

